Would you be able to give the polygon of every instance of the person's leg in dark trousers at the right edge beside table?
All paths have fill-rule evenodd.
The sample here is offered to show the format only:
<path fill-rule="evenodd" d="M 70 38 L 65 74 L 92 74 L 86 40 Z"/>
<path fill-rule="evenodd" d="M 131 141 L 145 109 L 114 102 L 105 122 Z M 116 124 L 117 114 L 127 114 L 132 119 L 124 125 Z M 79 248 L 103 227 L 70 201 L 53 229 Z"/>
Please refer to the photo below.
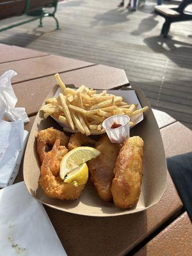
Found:
<path fill-rule="evenodd" d="M 192 220 L 192 152 L 167 159 L 168 171 Z"/>

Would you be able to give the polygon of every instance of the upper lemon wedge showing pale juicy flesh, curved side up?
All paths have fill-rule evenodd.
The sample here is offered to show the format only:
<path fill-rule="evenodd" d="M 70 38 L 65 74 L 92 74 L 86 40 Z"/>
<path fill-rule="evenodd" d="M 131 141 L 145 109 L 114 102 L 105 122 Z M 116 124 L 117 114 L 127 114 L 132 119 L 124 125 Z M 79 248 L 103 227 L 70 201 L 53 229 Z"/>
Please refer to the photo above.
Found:
<path fill-rule="evenodd" d="M 61 160 L 60 164 L 60 177 L 65 178 L 67 173 L 75 170 L 79 165 L 86 163 L 99 156 L 100 151 L 92 147 L 77 147 L 70 150 Z"/>

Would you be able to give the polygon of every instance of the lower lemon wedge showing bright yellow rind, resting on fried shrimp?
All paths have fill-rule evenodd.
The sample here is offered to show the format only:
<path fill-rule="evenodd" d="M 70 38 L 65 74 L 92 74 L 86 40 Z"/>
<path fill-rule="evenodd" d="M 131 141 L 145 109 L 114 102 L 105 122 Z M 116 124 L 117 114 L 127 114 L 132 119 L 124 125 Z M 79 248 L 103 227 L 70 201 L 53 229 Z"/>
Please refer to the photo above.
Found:
<path fill-rule="evenodd" d="M 64 182 L 77 182 L 78 185 L 86 184 L 88 180 L 88 166 L 86 163 L 79 165 L 75 170 L 65 176 Z"/>

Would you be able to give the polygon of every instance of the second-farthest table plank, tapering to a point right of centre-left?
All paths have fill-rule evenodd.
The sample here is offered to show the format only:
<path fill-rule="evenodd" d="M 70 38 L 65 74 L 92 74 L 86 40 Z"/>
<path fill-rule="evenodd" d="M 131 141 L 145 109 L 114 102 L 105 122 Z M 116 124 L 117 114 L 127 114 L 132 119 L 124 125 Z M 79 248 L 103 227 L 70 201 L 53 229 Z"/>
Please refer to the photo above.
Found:
<path fill-rule="evenodd" d="M 2 63 L 0 64 L 0 74 L 6 70 L 15 70 L 18 75 L 13 77 L 12 83 L 19 83 L 21 81 L 49 76 L 57 72 L 66 72 L 91 65 L 93 65 L 93 63 L 50 55 L 29 60 Z"/>

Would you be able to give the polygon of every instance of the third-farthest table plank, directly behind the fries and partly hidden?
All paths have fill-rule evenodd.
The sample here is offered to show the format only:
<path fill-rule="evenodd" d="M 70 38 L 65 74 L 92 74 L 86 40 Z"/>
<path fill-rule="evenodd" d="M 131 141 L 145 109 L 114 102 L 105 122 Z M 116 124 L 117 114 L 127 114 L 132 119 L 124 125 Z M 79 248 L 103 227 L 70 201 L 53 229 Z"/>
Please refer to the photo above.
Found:
<path fill-rule="evenodd" d="M 76 84 L 77 87 L 86 84 L 92 88 L 109 89 L 128 83 L 124 70 L 102 65 L 81 68 L 60 75 L 65 84 Z M 25 107 L 28 115 L 35 114 L 55 84 L 54 76 L 13 84 L 18 97 L 17 106 Z"/>

